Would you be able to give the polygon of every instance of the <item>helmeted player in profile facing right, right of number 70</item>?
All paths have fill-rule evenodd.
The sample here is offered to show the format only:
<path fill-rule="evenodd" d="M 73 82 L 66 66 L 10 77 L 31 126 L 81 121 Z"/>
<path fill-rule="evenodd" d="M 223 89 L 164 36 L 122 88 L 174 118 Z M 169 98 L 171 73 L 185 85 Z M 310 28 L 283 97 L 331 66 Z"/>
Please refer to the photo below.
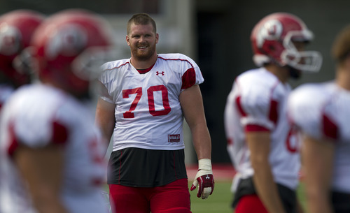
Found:
<path fill-rule="evenodd" d="M 237 175 L 232 206 L 236 213 L 296 212 L 299 144 L 287 119 L 290 78 L 318 71 L 321 55 L 304 51 L 312 34 L 300 18 L 273 13 L 251 33 L 259 68 L 241 73 L 225 106 L 228 152 Z"/>

